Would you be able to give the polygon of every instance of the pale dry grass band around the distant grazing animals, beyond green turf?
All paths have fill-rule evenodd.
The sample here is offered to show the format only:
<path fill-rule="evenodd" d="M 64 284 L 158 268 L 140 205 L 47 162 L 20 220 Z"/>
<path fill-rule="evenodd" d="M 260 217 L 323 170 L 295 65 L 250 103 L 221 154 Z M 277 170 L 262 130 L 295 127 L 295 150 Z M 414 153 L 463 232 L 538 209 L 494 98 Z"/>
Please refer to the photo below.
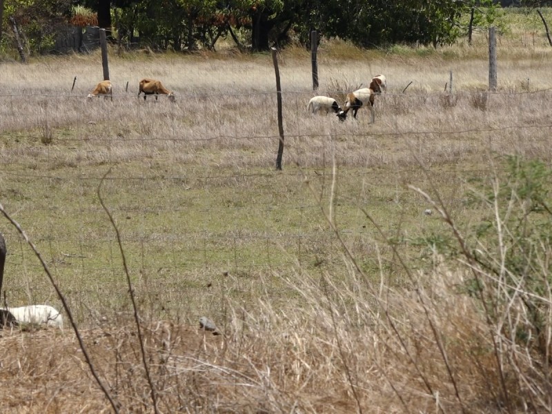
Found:
<path fill-rule="evenodd" d="M 215 155 L 221 166 L 262 167 L 272 163 L 277 119 L 270 110 L 275 103 L 270 59 L 174 59 L 112 59 L 113 103 L 101 99 L 87 103 L 83 99 L 101 75 L 92 76 L 94 70 L 99 72 L 92 57 L 69 59 L 61 68 L 41 61 L 23 75 L 19 65 L 4 64 L 3 74 L 10 87 L 4 87 L 7 96 L 0 103 L 3 160 L 9 162 L 19 155 L 19 146 L 8 137 L 22 134 L 25 142 L 39 139 L 54 143 L 33 148 L 37 154 L 31 155 L 30 164 L 97 165 L 143 159 L 155 152 L 175 162 L 193 162 L 199 159 L 197 152 L 206 152 Z M 412 66 L 381 59 L 362 70 L 342 66 L 339 61 L 321 64 L 317 93 L 337 99 L 348 89 L 366 84 L 376 72 L 388 74 L 389 93 L 377 99 L 376 123 L 369 126 L 363 112 L 359 121 L 345 124 L 336 123 L 332 117 L 306 117 L 306 102 L 313 95 L 308 60 L 283 60 L 284 132 L 289 143 L 284 162 L 288 164 L 319 165 L 319 156 L 328 152 L 332 140 L 344 143 L 335 148 L 337 157 L 351 166 L 411 164 L 411 150 L 405 141 L 412 137 L 422 142 L 420 154 L 431 162 L 446 159 L 447 153 L 457 157 L 451 151 L 477 157 L 489 144 L 498 153 L 527 141 L 533 144 L 527 149 L 533 154 L 547 149 L 547 90 L 551 86 L 544 63 L 531 70 L 501 66 L 500 91 L 484 95 L 484 111 L 474 101 L 485 91 L 484 61 L 436 61 L 431 63 L 431 71 L 424 59 Z M 442 90 L 451 69 L 455 90 L 447 97 Z M 71 93 L 74 76 L 77 86 Z M 177 104 L 170 106 L 161 99 L 154 105 L 137 99 L 137 82 L 144 76 L 163 79 L 177 93 Z M 528 78 L 529 90 L 523 86 Z M 414 83 L 402 93 L 410 81 Z M 537 130 L 537 126 L 544 128 Z M 431 133 L 440 135 L 439 145 Z M 255 156 L 250 156 L 251 151 Z"/>

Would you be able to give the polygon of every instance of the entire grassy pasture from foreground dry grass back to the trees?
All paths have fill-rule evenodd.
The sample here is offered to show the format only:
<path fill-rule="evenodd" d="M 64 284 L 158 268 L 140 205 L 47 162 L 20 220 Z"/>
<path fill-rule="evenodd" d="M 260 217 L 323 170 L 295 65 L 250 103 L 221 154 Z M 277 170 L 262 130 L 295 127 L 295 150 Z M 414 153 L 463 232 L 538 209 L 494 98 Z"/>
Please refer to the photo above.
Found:
<path fill-rule="evenodd" d="M 474 181 L 503 177 L 509 155 L 550 164 L 552 48 L 534 30 L 500 37 L 498 90 L 486 94 L 486 47 L 484 34 L 439 50 L 322 43 L 317 92 L 310 54 L 284 50 L 282 171 L 270 55 L 114 48 L 112 101 L 86 99 L 101 81 L 99 52 L 1 62 L 0 204 L 48 264 L 121 412 L 153 412 L 151 388 L 160 412 L 551 407 L 533 380 L 516 382 L 531 364 L 497 380 L 488 326 L 455 295 L 466 268 L 426 243 L 449 225 L 412 189 L 438 196 L 468 237 L 488 213 L 468 202 Z M 374 124 L 365 108 L 344 122 L 306 110 L 314 95 L 342 104 L 380 73 L 388 90 Z M 176 102 L 139 99 L 144 77 Z M 8 305 L 61 308 L 4 217 L 0 231 Z M 225 335 L 204 336 L 201 316 Z M 0 405 L 110 410 L 65 323 L 63 333 L 3 331 Z M 504 388 L 515 390 L 505 400 Z"/>

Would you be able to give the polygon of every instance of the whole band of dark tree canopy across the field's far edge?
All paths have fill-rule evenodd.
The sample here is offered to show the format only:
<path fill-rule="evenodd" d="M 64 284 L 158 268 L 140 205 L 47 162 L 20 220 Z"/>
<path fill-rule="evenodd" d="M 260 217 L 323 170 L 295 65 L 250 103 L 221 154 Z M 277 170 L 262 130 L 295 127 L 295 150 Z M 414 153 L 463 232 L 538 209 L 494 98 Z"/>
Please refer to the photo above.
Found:
<path fill-rule="evenodd" d="M 339 37 L 364 48 L 394 43 L 437 47 L 466 33 L 460 21 L 476 6 L 497 7 L 491 0 L 3 1 L 4 32 L 8 18 L 15 17 L 28 36 L 34 33 L 30 38 L 37 44 L 61 22 L 68 23 L 75 6 L 82 6 L 97 14 L 99 27 L 112 28 L 113 40 L 139 38 L 142 45 L 159 50 L 213 49 L 227 35 L 253 51 L 290 41 L 309 46 L 312 30 L 319 38 Z"/>

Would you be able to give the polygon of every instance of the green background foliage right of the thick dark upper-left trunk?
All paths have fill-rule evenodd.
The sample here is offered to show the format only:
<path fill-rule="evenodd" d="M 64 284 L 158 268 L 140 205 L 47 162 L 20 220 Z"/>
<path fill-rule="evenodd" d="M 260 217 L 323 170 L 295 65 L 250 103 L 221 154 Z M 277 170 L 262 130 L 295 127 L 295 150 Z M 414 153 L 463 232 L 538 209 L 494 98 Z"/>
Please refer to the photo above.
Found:
<path fill-rule="evenodd" d="M 445 45 L 462 34 L 458 21 L 470 10 L 471 4 L 448 0 L 394 0 L 391 3 L 384 0 L 142 0 L 127 3 L 121 8 L 121 22 L 138 30 L 142 39 L 153 46 L 172 45 L 177 50 L 182 39 L 186 39 L 184 43 L 188 47 L 191 39 L 208 45 L 215 34 L 226 33 L 230 26 L 250 30 L 253 50 L 266 50 L 274 43 L 285 46 L 291 41 L 291 31 L 308 45 L 311 30 L 318 30 L 325 37 L 350 40 L 365 48 L 396 43 Z M 489 3 L 489 10 L 494 10 L 490 0 L 484 3 Z M 485 16 L 493 20 L 491 12 Z"/>

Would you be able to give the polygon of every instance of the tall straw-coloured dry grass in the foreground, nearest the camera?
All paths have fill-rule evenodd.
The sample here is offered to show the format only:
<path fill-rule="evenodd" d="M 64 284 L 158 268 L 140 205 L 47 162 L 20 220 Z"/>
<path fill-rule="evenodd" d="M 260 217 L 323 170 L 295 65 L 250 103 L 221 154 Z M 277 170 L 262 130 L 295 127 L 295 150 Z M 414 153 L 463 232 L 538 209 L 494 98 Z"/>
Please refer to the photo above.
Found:
<path fill-rule="evenodd" d="M 144 323 L 161 412 L 504 411 L 489 326 L 476 301 L 454 293 L 464 276 L 436 268 L 420 277 L 431 284 L 405 295 L 385 280 L 373 288 L 353 275 L 336 282 L 303 273 L 287 281 L 300 310 L 259 298 L 257 311 L 232 309 L 218 337 L 178 322 Z M 121 319 L 83 336 L 122 411 L 150 411 L 133 331 Z M 511 412 L 549 407 L 539 358 L 497 340 Z M 10 412 L 107 411 L 69 333 L 4 331 L 1 342 Z"/>

